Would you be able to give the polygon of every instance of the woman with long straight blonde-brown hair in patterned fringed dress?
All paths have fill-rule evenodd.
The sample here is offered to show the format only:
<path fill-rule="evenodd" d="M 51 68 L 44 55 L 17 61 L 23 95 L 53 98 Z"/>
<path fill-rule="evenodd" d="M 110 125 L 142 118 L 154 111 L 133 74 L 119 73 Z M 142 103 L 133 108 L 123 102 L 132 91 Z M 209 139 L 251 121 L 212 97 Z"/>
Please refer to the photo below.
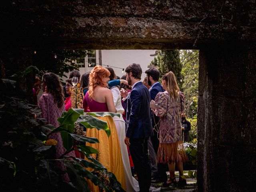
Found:
<path fill-rule="evenodd" d="M 168 163 L 170 179 L 163 184 L 164 187 L 170 184 L 176 185 L 174 175 L 175 164 L 180 177 L 178 186 L 185 186 L 186 179 L 182 179 L 182 162 L 188 160 L 182 144 L 182 129 L 180 116 L 185 110 L 185 95 L 180 92 L 173 72 L 168 72 L 162 77 L 162 86 L 165 92 L 159 92 L 155 98 L 155 105 L 152 104 L 152 111 L 160 117 L 159 148 L 157 160 L 161 163 Z"/>

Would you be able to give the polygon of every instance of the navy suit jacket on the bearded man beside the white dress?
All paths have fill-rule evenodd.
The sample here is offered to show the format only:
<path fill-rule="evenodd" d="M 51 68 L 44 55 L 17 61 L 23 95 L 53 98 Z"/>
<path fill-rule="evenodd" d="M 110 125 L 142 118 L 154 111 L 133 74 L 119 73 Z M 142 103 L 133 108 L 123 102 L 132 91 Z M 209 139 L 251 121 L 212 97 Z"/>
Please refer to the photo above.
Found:
<path fill-rule="evenodd" d="M 150 94 L 142 82 L 138 82 L 126 102 L 126 136 L 148 138 L 151 133 Z"/>

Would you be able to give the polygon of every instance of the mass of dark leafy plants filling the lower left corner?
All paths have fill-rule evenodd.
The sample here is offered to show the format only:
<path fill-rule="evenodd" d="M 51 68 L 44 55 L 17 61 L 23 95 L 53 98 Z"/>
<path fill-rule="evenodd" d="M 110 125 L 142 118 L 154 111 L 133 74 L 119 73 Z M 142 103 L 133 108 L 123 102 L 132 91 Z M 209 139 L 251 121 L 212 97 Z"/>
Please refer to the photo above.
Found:
<path fill-rule="evenodd" d="M 26 72 L 16 74 L 16 78 Z M 40 114 L 40 109 L 37 106 L 28 104 L 25 100 L 16 98 L 17 83 L 9 79 L 0 80 L 1 90 L 9 88 L 11 92 L 0 93 L 0 188 L 6 192 L 43 192 L 43 191 L 90 191 L 85 178 L 92 180 L 95 185 L 100 186 L 106 192 L 124 191 L 120 183 L 116 180 L 114 174 L 108 172 L 106 168 L 96 159 L 92 158 L 91 154 L 98 153 L 94 148 L 86 145 L 78 145 L 77 148 L 82 152 L 87 160 L 66 157 L 68 152 L 74 150 L 73 144 L 76 141 L 83 143 L 96 143 L 96 138 L 88 138 L 73 134 L 74 122 L 84 116 L 82 110 L 71 109 L 59 118 L 60 126 L 54 128 L 52 125 L 45 125 L 46 120 L 35 118 Z M 113 115 L 113 114 L 112 114 Z M 100 127 L 94 116 L 90 121 L 90 126 L 95 124 L 98 129 L 108 128 Z M 82 121 L 82 120 L 81 120 Z M 100 121 L 100 120 L 98 120 Z M 47 136 L 60 132 L 62 134 L 63 144 L 67 149 L 65 154 L 60 158 L 55 158 L 55 147 L 53 144 L 47 144 Z M 57 162 L 63 162 L 66 170 L 60 170 L 56 166 Z M 92 168 L 89 172 L 85 168 Z M 70 182 L 64 182 L 61 175 L 68 173 Z M 109 183 L 106 185 L 104 180 L 99 179 L 101 173 L 106 173 L 109 178 Z M 102 174 L 101 174 L 102 175 Z"/>

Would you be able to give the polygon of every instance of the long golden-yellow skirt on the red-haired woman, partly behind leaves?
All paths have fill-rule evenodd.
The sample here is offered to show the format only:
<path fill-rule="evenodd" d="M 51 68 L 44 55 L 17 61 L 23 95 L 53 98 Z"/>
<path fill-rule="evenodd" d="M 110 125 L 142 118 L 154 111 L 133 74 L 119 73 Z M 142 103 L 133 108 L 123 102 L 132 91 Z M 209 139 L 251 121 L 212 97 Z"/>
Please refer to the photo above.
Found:
<path fill-rule="evenodd" d="M 98 150 L 99 154 L 97 155 L 97 160 L 107 168 L 108 172 L 112 172 L 116 176 L 122 188 L 126 190 L 122 154 L 114 120 L 111 116 L 97 118 L 107 122 L 108 128 L 111 131 L 110 137 L 108 138 L 104 130 L 97 130 L 96 128 L 87 129 L 86 136 L 97 138 L 99 143 L 86 143 L 86 146 Z M 95 154 L 93 157 L 96 157 Z M 88 185 L 92 192 L 100 191 L 99 187 L 95 186 L 91 181 L 88 181 Z"/>

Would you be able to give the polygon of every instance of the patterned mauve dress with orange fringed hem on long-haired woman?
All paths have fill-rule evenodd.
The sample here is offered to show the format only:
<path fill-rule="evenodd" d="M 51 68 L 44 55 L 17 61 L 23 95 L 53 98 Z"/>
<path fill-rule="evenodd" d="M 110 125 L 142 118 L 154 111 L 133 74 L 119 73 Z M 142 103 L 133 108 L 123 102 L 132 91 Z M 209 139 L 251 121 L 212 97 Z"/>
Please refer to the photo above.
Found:
<path fill-rule="evenodd" d="M 159 92 L 155 98 L 156 116 L 160 117 L 159 148 L 157 160 L 161 163 L 186 162 L 188 157 L 182 144 L 182 129 L 180 115 L 185 110 L 185 95 L 178 93 L 178 98 L 170 97 L 170 94 Z M 170 145 L 165 148 L 164 145 Z M 167 154 L 167 151 L 169 155 Z M 179 154 L 179 155 L 177 155 Z"/>

